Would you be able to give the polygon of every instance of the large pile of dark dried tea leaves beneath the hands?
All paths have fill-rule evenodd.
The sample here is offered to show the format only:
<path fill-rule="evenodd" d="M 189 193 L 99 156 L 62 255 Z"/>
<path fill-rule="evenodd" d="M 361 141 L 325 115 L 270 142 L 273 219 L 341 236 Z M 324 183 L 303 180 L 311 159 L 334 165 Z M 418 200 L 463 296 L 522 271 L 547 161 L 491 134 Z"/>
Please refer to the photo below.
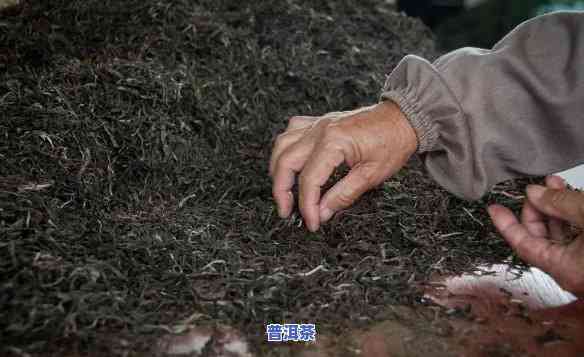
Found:
<path fill-rule="evenodd" d="M 140 355 L 190 326 L 334 334 L 510 255 L 485 203 L 419 163 L 316 234 L 277 218 L 293 114 L 377 100 L 431 34 L 384 1 L 31 1 L 0 21 L 0 339 L 14 355 Z M 455 173 L 453 173 L 455 174 Z M 274 352 L 275 353 L 275 352 Z"/>

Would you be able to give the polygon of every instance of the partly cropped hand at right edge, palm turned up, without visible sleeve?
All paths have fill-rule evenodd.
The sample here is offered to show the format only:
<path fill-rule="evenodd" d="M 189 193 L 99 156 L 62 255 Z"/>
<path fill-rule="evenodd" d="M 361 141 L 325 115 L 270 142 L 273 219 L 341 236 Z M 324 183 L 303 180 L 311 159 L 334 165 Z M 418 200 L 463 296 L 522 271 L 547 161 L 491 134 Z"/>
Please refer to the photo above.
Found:
<path fill-rule="evenodd" d="M 519 257 L 547 272 L 565 290 L 584 297 L 584 193 L 566 188 L 557 176 L 546 178 L 546 187 L 531 185 L 521 222 L 501 206 L 489 207 L 495 226 Z M 580 228 L 569 240 L 565 223 Z"/>

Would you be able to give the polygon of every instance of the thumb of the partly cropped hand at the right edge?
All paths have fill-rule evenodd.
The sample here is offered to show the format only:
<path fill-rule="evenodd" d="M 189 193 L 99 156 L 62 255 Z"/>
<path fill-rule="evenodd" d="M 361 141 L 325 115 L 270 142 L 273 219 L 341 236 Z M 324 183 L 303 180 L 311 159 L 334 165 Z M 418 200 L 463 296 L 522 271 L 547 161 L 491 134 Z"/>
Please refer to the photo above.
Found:
<path fill-rule="evenodd" d="M 584 193 L 529 185 L 527 199 L 548 216 L 584 227 Z"/>

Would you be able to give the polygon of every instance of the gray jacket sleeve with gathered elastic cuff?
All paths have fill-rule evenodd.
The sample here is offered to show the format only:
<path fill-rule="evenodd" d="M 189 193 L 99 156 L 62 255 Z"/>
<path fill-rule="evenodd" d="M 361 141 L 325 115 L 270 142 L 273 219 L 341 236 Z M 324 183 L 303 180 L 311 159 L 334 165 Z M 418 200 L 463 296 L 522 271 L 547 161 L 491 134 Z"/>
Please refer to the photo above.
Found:
<path fill-rule="evenodd" d="M 430 175 L 465 199 L 584 163 L 584 13 L 527 21 L 492 50 L 407 56 L 382 99 L 416 130 Z"/>

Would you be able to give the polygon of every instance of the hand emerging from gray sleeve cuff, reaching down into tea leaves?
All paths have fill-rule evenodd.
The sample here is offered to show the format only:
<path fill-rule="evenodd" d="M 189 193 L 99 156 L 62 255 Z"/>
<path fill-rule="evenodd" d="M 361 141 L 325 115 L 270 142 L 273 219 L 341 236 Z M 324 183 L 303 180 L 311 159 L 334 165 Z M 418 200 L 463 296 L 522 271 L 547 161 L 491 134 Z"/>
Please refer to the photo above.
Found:
<path fill-rule="evenodd" d="M 270 160 L 278 212 L 282 218 L 292 212 L 292 186 L 299 174 L 300 212 L 314 232 L 396 173 L 416 148 L 416 133 L 393 102 L 321 117 L 293 117 L 278 136 Z M 350 172 L 321 199 L 321 187 L 342 163 Z"/>

